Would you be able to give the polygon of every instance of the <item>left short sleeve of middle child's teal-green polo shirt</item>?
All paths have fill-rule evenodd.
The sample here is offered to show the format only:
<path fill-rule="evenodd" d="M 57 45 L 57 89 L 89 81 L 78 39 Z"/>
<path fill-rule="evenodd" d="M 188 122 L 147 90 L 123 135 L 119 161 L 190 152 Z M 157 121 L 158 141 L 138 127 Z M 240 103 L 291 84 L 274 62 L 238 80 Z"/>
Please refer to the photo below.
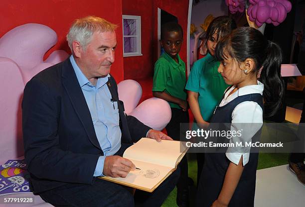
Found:
<path fill-rule="evenodd" d="M 200 61 L 200 60 L 197 60 L 194 63 L 194 65 L 190 71 L 186 86 L 185 86 L 186 90 L 196 92 L 196 93 L 199 92 L 200 74 L 201 74 L 201 70 L 202 70 L 202 68 L 200 67 L 200 64 L 198 64 L 199 63 L 198 61 Z"/>

